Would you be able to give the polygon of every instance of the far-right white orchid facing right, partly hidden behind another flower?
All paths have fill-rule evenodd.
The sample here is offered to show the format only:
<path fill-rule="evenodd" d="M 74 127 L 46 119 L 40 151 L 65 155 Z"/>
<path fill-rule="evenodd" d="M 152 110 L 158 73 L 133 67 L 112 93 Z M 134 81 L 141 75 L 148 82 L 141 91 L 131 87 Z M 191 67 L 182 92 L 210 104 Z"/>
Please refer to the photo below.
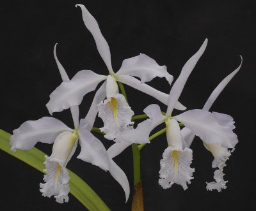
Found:
<path fill-rule="evenodd" d="M 226 76 L 220 84 L 214 89 L 211 96 L 207 99 L 203 110 L 209 111 L 214 101 L 218 98 L 220 93 L 223 91 L 223 89 L 226 87 L 228 82 L 236 75 L 236 73 L 241 68 L 243 59 L 241 57 L 241 64 L 237 69 L 235 69 L 230 75 Z M 216 113 L 212 112 L 215 119 L 218 121 L 219 124 L 221 124 L 223 127 L 229 127 L 234 129 L 234 120 L 232 117 L 230 117 L 227 114 L 223 113 Z M 184 140 L 184 145 L 186 147 L 190 147 L 191 143 L 193 142 L 195 138 L 195 134 L 187 127 L 182 128 L 181 134 Z M 228 140 L 227 140 L 228 141 Z M 217 170 L 214 171 L 214 179 L 215 182 L 209 182 L 207 183 L 207 190 L 212 191 L 213 189 L 218 190 L 219 192 L 222 189 L 227 188 L 226 183 L 227 181 L 224 180 L 223 176 L 225 175 L 223 173 L 223 168 L 226 166 L 226 161 L 229 159 L 229 156 L 231 155 L 231 152 L 234 150 L 234 145 L 232 150 L 228 150 L 227 147 L 222 147 L 220 143 L 207 143 L 203 140 L 204 146 L 207 150 L 209 150 L 212 153 L 212 156 L 214 157 L 214 160 L 212 161 L 212 168 L 217 168 Z"/>

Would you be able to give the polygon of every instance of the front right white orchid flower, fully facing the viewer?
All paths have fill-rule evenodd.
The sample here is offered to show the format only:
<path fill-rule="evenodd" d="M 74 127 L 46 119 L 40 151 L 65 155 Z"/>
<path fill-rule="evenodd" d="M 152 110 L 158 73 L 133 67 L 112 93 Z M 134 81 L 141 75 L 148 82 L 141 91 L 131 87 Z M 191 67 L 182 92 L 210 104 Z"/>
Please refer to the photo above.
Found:
<path fill-rule="evenodd" d="M 148 143 L 150 131 L 159 124 L 166 124 L 167 149 L 164 150 L 161 159 L 161 170 L 159 171 L 159 184 L 164 188 L 171 187 L 174 183 L 187 189 L 187 183 L 193 178 L 194 169 L 190 167 L 192 162 L 192 150 L 182 144 L 182 134 L 179 122 L 193 131 L 207 144 L 217 143 L 222 147 L 232 148 L 236 145 L 237 136 L 233 133 L 234 127 L 223 126 L 216 120 L 214 114 L 207 110 L 188 110 L 180 115 L 172 116 L 175 103 L 188 80 L 188 76 L 200 59 L 207 45 L 207 39 L 202 47 L 191 57 L 182 68 L 179 78 L 173 84 L 168 98 L 168 108 L 163 115 L 158 105 L 149 105 L 144 112 L 149 119 L 138 124 L 136 129 L 127 129 L 122 133 L 116 142 Z"/>

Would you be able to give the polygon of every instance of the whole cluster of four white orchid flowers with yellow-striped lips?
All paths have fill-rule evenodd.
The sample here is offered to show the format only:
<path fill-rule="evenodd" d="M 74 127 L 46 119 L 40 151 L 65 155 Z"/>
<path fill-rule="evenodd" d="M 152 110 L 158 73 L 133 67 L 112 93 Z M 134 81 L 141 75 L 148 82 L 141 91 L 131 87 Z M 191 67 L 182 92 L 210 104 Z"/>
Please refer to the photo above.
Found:
<path fill-rule="evenodd" d="M 195 170 L 191 168 L 193 150 L 190 146 L 195 136 L 199 136 L 205 148 L 211 152 L 214 157 L 212 168 L 217 168 L 214 172 L 214 182 L 207 183 L 207 189 L 218 191 L 225 189 L 227 181 L 223 178 L 223 168 L 238 142 L 233 132 L 234 120 L 227 114 L 209 112 L 209 110 L 220 92 L 239 71 L 241 64 L 214 89 L 202 109 L 188 110 L 173 116 L 173 109 L 186 110 L 178 100 L 191 71 L 204 53 L 207 39 L 198 52 L 186 62 L 179 78 L 172 85 L 170 94 L 166 94 L 145 83 L 158 76 L 166 78 L 171 85 L 173 76 L 168 73 L 166 66 L 159 66 L 154 59 L 145 54 L 125 59 L 121 68 L 116 72 L 113 71 L 109 46 L 100 32 L 97 21 L 82 4 L 76 6 L 82 10 L 84 24 L 92 33 L 109 73 L 99 75 L 90 70 L 82 70 L 70 80 L 58 60 L 55 45 L 54 58 L 63 82 L 51 93 L 46 106 L 51 115 L 70 108 L 74 128 L 66 126 L 54 117 L 42 117 L 42 119 L 24 122 L 13 131 L 11 137 L 13 151 L 31 149 L 37 142 L 53 143 L 51 156 L 45 156 L 46 174 L 44 183 L 40 184 L 42 195 L 54 196 L 59 203 L 68 201 L 69 176 L 66 166 L 79 143 L 81 152 L 77 158 L 109 171 L 124 189 L 127 201 L 130 194 L 129 182 L 124 171 L 113 161 L 113 157 L 132 143 L 136 145 L 149 143 L 150 132 L 159 124 L 166 126 L 168 144 L 163 152 L 159 171 L 159 184 L 164 189 L 173 184 L 179 184 L 187 189 L 188 184 L 191 183 Z M 103 84 L 95 93 L 90 110 L 84 119 L 79 120 L 78 106 L 88 92 L 95 91 L 100 82 Z M 134 128 L 134 122 L 131 120 L 134 112 L 125 99 L 123 86 L 120 86 L 123 94 L 119 92 L 118 84 L 121 83 L 145 92 L 164 103 L 167 106 L 166 112 L 162 112 L 158 105 L 148 105 L 144 110 L 148 119 Z M 100 128 L 104 138 L 113 140 L 113 145 L 108 150 L 91 133 L 97 113 L 104 122 L 104 127 Z M 180 129 L 181 127 L 183 128 Z"/>

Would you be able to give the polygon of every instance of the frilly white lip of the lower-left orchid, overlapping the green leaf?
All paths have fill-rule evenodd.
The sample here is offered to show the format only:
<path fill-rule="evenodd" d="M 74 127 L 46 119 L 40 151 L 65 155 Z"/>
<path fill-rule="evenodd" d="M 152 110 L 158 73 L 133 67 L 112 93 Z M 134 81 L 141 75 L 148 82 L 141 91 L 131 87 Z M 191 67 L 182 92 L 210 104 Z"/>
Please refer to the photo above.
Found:
<path fill-rule="evenodd" d="M 58 203 L 68 202 L 69 176 L 65 166 L 61 166 L 51 157 L 45 156 L 45 183 L 40 183 L 40 192 L 43 196 L 54 196 Z"/>

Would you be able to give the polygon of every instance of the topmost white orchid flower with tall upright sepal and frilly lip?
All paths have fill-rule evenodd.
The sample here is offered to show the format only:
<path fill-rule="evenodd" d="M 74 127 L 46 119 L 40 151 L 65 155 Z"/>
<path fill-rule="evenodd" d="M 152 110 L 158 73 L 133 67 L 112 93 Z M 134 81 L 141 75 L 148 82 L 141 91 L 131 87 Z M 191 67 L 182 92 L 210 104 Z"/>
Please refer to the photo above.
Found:
<path fill-rule="evenodd" d="M 79 105 L 85 94 L 94 91 L 100 82 L 106 80 L 100 87 L 106 94 L 104 96 L 102 94 L 98 110 L 99 117 L 104 122 L 104 127 L 101 128 L 101 131 L 106 133 L 105 138 L 113 140 L 116 138 L 116 134 L 121 133 L 129 124 L 132 124 L 131 117 L 134 115 L 124 96 L 119 94 L 116 82 L 130 85 L 167 104 L 168 94 L 157 91 L 144 83 L 159 76 L 166 78 L 171 84 L 173 76 L 167 72 L 166 66 L 159 66 L 154 59 L 145 54 L 125 59 L 121 68 L 115 73 L 111 66 L 108 43 L 102 36 L 97 21 L 84 5 L 76 4 L 76 6 L 79 6 L 82 10 L 84 24 L 92 33 L 99 54 L 108 68 L 109 75 L 99 75 L 90 70 L 79 71 L 70 82 L 63 82 L 52 92 L 49 103 L 46 106 L 49 113 L 52 114 L 52 112 L 61 112 L 64 109 Z M 141 80 L 137 80 L 133 76 Z M 104 98 L 106 99 L 104 100 Z M 179 110 L 186 109 L 179 102 L 175 103 L 175 108 Z"/>

